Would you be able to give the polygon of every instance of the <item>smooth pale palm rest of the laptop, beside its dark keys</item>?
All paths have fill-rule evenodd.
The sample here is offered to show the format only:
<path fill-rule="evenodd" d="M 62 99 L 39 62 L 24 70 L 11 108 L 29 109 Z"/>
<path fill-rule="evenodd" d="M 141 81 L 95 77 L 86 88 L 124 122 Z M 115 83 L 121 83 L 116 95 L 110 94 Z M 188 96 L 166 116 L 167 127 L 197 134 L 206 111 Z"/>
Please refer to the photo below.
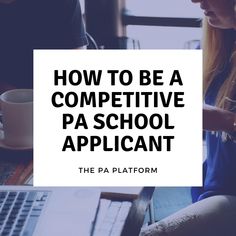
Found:
<path fill-rule="evenodd" d="M 98 188 L 56 189 L 41 215 L 35 235 L 89 236 L 99 197 Z"/>

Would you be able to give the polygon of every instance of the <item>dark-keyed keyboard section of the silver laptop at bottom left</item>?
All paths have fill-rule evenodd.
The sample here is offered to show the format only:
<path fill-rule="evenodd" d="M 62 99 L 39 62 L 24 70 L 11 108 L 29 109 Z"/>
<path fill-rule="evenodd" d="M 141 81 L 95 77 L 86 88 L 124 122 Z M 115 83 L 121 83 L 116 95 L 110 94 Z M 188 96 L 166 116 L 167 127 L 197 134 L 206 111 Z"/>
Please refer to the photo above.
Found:
<path fill-rule="evenodd" d="M 32 236 L 49 192 L 0 191 L 0 235 Z"/>

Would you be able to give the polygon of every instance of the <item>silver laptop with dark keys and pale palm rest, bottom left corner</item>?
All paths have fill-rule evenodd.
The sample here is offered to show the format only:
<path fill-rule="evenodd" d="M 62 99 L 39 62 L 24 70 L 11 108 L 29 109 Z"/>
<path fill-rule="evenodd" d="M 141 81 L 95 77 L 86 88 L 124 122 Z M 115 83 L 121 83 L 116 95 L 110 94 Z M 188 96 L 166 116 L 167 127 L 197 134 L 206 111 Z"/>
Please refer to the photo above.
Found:
<path fill-rule="evenodd" d="M 1 236 L 90 236 L 99 188 L 0 186 Z"/>

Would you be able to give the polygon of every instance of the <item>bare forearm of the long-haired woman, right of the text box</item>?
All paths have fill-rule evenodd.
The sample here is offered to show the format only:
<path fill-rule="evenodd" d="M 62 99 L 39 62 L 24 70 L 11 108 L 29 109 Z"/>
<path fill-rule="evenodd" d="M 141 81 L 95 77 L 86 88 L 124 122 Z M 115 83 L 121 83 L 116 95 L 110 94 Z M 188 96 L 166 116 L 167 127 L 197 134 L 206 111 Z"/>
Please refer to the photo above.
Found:
<path fill-rule="evenodd" d="M 203 129 L 211 131 L 236 131 L 236 113 L 214 106 L 203 107 Z"/>

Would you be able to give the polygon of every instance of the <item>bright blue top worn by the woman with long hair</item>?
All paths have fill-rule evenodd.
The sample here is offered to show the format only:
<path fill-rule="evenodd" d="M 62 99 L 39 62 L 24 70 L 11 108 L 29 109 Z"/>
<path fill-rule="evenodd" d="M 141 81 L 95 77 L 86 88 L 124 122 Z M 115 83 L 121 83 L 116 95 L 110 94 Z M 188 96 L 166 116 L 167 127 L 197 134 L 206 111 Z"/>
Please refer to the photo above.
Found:
<path fill-rule="evenodd" d="M 219 73 L 210 85 L 205 102 L 215 105 L 220 87 L 229 68 Z M 236 112 L 236 111 L 235 111 Z M 206 132 L 207 160 L 204 196 L 215 194 L 236 195 L 236 143 L 225 132 Z"/>

